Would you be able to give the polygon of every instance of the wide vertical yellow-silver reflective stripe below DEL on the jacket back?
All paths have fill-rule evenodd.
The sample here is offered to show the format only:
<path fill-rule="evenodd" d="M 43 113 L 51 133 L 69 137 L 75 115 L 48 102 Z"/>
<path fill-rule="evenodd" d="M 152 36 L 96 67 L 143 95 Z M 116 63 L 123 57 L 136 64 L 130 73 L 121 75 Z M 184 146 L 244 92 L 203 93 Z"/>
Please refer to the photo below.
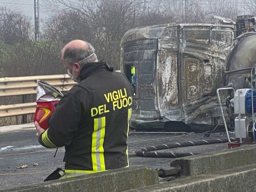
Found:
<path fill-rule="evenodd" d="M 92 133 L 92 167 L 93 171 L 105 171 L 104 137 L 106 118 L 94 119 L 94 131 Z"/>

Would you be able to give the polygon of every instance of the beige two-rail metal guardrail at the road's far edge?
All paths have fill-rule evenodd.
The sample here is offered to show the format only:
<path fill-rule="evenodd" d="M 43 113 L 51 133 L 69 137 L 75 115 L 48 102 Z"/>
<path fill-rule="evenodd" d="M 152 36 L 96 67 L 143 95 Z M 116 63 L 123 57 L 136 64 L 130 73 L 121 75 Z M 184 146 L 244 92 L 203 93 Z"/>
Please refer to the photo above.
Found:
<path fill-rule="evenodd" d="M 76 83 L 68 75 L 0 78 L 0 97 L 36 94 L 37 80 L 42 80 L 65 92 Z M 36 103 L 21 103 L 0 106 L 0 118 L 33 114 Z"/>

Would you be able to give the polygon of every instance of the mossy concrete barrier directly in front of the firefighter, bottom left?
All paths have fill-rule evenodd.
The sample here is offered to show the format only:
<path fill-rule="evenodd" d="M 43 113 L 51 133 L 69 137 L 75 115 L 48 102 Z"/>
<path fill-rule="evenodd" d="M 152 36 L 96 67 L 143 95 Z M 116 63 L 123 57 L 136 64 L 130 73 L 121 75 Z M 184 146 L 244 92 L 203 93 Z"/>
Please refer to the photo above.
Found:
<path fill-rule="evenodd" d="M 77 176 L 68 179 L 48 181 L 19 188 L 0 190 L 1 192 L 121 192 L 158 182 L 157 170 L 143 166 L 121 168 L 101 173 Z"/>

